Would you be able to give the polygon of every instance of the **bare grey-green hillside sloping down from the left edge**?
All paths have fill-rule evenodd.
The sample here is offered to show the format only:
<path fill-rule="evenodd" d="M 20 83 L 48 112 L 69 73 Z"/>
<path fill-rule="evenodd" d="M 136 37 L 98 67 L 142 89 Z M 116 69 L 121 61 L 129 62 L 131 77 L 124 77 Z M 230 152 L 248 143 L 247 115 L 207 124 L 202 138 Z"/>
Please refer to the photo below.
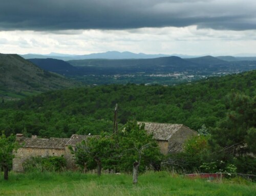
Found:
<path fill-rule="evenodd" d="M 0 54 L 0 95 L 39 93 L 70 88 L 76 84 L 44 71 L 16 54 Z M 25 93 L 25 94 L 24 94 Z"/>

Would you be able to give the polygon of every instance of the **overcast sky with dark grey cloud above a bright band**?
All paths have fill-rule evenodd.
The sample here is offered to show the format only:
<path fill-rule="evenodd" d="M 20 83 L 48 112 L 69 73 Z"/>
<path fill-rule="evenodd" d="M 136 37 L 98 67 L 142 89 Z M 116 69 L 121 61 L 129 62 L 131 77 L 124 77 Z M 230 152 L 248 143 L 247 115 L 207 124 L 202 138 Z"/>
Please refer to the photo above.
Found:
<path fill-rule="evenodd" d="M 0 0 L 0 53 L 256 55 L 255 0 Z"/>

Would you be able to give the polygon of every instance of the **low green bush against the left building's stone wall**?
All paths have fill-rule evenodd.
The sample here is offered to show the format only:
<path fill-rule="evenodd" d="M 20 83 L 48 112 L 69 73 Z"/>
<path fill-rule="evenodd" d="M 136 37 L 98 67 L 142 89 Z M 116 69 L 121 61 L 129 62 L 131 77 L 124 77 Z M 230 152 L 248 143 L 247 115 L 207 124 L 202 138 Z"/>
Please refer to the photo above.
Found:
<path fill-rule="evenodd" d="M 23 163 L 24 171 L 62 171 L 67 162 L 63 157 L 31 157 Z"/>

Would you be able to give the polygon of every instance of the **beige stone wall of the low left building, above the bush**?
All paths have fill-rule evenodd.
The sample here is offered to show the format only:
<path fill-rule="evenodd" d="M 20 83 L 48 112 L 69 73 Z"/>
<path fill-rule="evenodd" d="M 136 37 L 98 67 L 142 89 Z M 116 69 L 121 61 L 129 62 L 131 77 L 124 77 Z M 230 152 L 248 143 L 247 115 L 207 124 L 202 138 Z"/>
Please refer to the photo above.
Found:
<path fill-rule="evenodd" d="M 13 171 L 24 171 L 23 162 L 30 157 L 48 157 L 48 156 L 65 156 L 64 149 L 49 149 L 49 148 L 19 148 L 14 154 L 15 158 L 12 160 Z"/>

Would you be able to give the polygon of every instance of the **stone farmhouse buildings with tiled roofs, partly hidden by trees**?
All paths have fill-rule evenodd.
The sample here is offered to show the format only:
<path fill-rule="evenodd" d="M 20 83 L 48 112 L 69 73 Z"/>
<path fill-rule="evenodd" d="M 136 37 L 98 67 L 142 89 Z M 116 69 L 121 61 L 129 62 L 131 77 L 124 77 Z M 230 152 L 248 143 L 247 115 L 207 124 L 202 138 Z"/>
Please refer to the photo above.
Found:
<path fill-rule="evenodd" d="M 138 122 L 145 124 L 145 130 L 148 134 L 153 134 L 153 138 L 157 140 L 161 153 L 177 153 L 182 151 L 184 141 L 197 133 L 182 124 L 167 124 L 153 122 Z M 76 165 L 69 146 L 75 148 L 77 143 L 87 140 L 90 137 L 99 136 L 81 136 L 72 135 L 71 138 L 50 138 L 40 139 L 36 136 L 25 138 L 22 134 L 16 135 L 16 140 L 24 145 L 18 148 L 13 159 L 13 170 L 23 171 L 23 162 L 30 157 L 48 157 L 48 156 L 64 156 L 67 160 L 67 169 L 75 169 Z"/>

